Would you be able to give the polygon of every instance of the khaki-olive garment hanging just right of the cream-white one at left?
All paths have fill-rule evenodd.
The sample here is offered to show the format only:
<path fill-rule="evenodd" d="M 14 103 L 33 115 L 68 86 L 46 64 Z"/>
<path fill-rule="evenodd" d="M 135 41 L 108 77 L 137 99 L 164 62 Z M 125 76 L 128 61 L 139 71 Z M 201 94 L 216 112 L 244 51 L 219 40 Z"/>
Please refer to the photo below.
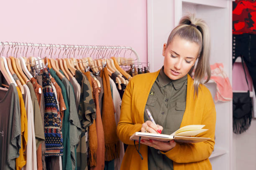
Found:
<path fill-rule="evenodd" d="M 27 82 L 27 86 L 28 86 L 30 94 L 31 94 L 32 105 L 33 105 L 35 136 L 36 136 L 36 149 L 37 149 L 38 146 L 45 140 L 44 125 L 43 125 L 41 111 L 39 108 L 39 104 L 38 104 L 38 100 L 36 97 L 34 87 L 30 81 Z"/>

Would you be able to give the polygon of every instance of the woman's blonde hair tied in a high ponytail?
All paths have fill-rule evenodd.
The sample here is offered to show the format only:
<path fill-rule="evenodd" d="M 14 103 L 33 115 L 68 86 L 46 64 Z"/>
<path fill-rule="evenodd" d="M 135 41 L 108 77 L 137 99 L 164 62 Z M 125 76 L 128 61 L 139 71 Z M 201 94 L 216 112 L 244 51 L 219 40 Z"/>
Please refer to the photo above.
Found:
<path fill-rule="evenodd" d="M 179 25 L 175 27 L 170 33 L 167 41 L 167 46 L 172 42 L 175 35 L 195 42 L 200 45 L 199 55 L 197 57 L 197 65 L 195 68 L 194 88 L 198 93 L 198 87 L 200 84 L 206 83 L 210 80 L 210 31 L 204 20 L 195 18 L 195 14 L 186 15 L 181 18 Z M 190 69 L 188 74 L 191 76 L 194 66 Z M 205 75 L 207 80 L 204 81 Z"/>

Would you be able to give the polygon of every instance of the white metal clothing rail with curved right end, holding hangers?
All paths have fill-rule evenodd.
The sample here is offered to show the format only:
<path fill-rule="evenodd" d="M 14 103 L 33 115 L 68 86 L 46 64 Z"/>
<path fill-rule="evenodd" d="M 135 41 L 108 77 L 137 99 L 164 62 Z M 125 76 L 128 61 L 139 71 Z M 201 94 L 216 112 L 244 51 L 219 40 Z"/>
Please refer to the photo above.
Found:
<path fill-rule="evenodd" d="M 111 49 L 111 50 L 118 50 L 118 49 L 127 49 L 127 50 L 131 50 L 134 55 L 137 58 L 137 62 L 140 62 L 140 58 L 138 57 L 138 54 L 135 50 L 133 50 L 132 47 L 121 47 L 121 46 L 105 46 L 105 45 L 68 45 L 68 44 L 34 44 L 34 43 L 26 43 L 26 42 L 1 42 L 1 45 L 18 45 L 18 46 L 30 46 L 30 47 L 66 47 L 66 48 L 89 48 L 89 49 Z"/>

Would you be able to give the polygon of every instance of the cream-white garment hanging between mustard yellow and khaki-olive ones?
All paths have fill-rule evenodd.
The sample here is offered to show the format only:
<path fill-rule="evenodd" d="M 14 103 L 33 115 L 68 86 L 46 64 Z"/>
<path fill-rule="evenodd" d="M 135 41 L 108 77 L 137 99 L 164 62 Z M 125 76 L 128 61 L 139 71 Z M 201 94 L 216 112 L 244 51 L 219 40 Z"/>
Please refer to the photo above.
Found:
<path fill-rule="evenodd" d="M 34 114 L 33 114 L 33 106 L 31 100 L 31 94 L 27 85 L 23 85 L 24 88 L 24 102 L 25 109 L 27 112 L 28 118 L 28 144 L 26 150 L 26 165 L 24 166 L 24 170 L 37 170 L 37 154 L 36 154 L 36 136 L 35 136 L 35 128 L 34 128 Z M 41 154 L 42 155 L 42 154 Z M 41 156 L 42 162 L 42 156 Z"/>

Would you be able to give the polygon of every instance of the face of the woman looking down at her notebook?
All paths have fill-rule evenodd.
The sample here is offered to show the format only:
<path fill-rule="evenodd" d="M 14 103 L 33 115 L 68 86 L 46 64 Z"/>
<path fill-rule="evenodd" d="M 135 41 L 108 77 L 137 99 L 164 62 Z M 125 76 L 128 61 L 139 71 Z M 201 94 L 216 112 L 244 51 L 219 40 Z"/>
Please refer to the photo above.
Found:
<path fill-rule="evenodd" d="M 164 73 L 171 80 L 177 80 L 189 72 L 195 65 L 200 46 L 175 35 L 168 47 L 163 48 Z"/>

